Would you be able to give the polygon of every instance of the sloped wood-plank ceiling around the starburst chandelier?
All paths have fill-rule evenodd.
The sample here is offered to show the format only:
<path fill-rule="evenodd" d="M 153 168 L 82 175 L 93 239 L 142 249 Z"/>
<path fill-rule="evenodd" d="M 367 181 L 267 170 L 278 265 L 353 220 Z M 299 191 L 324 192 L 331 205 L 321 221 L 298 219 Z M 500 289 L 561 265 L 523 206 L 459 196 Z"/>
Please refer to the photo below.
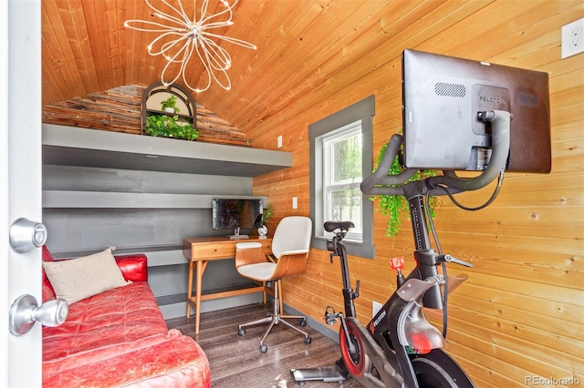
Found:
<path fill-rule="evenodd" d="M 183 0 L 187 14 L 193 12 L 193 3 Z M 211 0 L 209 9 L 218 4 Z M 422 29 L 427 35 L 432 23 L 464 6 L 439 1 L 240 0 L 234 25 L 217 33 L 244 39 L 257 50 L 223 43 L 233 58 L 232 89 L 213 85 L 193 97 L 246 132 L 312 91 L 339 90 L 394 60 L 405 48 L 391 46 L 394 37 L 399 41 L 400 35 Z M 43 0 L 43 104 L 159 81 L 165 60 L 146 50 L 154 36 L 124 27 L 128 19 L 153 18 L 144 0 Z M 361 66 L 346 71 L 357 60 Z M 193 84 L 202 76 L 200 64 L 188 69 Z"/>

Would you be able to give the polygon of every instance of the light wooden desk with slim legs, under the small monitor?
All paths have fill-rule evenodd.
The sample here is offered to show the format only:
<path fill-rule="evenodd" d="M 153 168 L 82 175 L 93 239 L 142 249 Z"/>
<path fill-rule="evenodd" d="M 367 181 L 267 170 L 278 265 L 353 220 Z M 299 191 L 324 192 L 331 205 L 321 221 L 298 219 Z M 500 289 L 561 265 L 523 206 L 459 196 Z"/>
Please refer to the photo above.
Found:
<path fill-rule="evenodd" d="M 272 252 L 272 239 L 245 239 L 230 240 L 228 237 L 199 237 L 183 240 L 183 254 L 191 260 L 189 264 L 189 285 L 187 288 L 186 317 L 191 316 L 191 303 L 194 303 L 194 333 L 199 333 L 201 317 L 201 301 L 226 298 L 229 296 L 244 295 L 264 291 L 264 286 L 248 287 L 234 291 L 214 292 L 202 295 L 203 272 L 207 268 L 209 260 L 222 260 L 235 258 L 235 244 L 237 242 L 261 242 L 266 253 Z M 193 296 L 193 272 L 196 271 L 196 290 Z"/>

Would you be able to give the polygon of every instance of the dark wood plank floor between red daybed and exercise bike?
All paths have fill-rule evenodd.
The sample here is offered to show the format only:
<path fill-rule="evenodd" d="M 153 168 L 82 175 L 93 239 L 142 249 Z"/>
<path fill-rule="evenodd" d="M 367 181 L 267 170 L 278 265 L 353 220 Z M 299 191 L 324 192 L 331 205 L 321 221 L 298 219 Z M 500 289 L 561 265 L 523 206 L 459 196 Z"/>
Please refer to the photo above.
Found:
<path fill-rule="evenodd" d="M 201 345 L 211 365 L 211 384 L 216 388 L 297 387 L 290 369 L 317 368 L 334 365 L 340 357 L 339 344 L 307 326 L 312 342 L 284 324 L 275 325 L 266 338 L 268 350 L 259 352 L 259 340 L 267 325 L 245 328 L 245 336 L 237 335 L 237 325 L 254 321 L 271 311 L 271 303 L 250 304 L 235 308 L 203 312 L 201 330 L 194 335 L 194 318 L 174 318 L 166 323 L 193 337 Z M 292 322 L 297 324 L 297 322 Z M 307 388 L 353 388 L 360 384 L 352 379 L 343 383 L 308 382 Z"/>

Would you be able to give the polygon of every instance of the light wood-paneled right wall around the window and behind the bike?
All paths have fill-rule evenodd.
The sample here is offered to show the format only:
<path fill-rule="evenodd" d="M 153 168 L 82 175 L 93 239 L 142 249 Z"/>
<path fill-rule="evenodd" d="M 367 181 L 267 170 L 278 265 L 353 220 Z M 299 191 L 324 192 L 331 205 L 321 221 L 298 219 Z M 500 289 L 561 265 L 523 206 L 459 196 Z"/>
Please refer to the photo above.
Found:
<path fill-rule="evenodd" d="M 400 2 L 388 4 L 387 12 L 394 3 Z M 256 148 L 275 149 L 282 136 L 281 149 L 293 153 L 292 168 L 254 179 L 254 194 L 269 196 L 275 210 L 269 229 L 284 216 L 309 214 L 309 124 L 374 94 L 374 154 L 400 130 L 403 48 L 545 71 L 552 173 L 507 173 L 498 199 L 480 211 L 458 209 L 448 199 L 440 199 L 436 210 L 443 250 L 474 263 L 464 271 L 450 267 L 470 278 L 450 300 L 447 349 L 479 387 L 528 386 L 534 376 L 558 379 L 551 382 L 557 386 L 584 384 L 584 54 L 560 59 L 560 28 L 584 15 L 583 3 L 444 2 L 408 26 L 384 26 L 382 14 L 376 14 L 376 29 L 356 30 L 351 43 L 376 42 L 369 56 L 350 58 L 248 132 Z M 459 198 L 480 204 L 490 193 Z M 292 209 L 292 197 L 298 209 Z M 388 238 L 386 222 L 376 209 L 375 260 L 349 258 L 353 284 L 361 281 L 361 322 L 370 320 L 371 301 L 385 301 L 394 290 L 389 258 L 404 256 L 412 265 L 410 228 Z M 339 262 L 330 264 L 328 252 L 312 250 L 308 271 L 284 281 L 284 300 L 322 320 L 326 306 L 342 310 L 340 287 Z"/>

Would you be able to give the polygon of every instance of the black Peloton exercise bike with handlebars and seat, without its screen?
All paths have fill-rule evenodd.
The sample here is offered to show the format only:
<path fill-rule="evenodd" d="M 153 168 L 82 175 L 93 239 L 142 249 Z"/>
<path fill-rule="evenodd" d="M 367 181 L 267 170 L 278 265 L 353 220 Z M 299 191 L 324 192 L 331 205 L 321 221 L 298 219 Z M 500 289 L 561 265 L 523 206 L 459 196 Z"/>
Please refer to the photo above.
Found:
<path fill-rule="evenodd" d="M 415 170 L 405 169 L 399 175 L 388 176 L 391 163 L 398 155 L 402 138 L 393 135 L 379 168 L 360 185 L 361 191 L 372 195 L 404 195 L 408 200 L 415 242 L 415 268 L 408 275 L 401 273 L 402 260 L 391 260 L 398 272 L 397 290 L 385 302 L 367 325 L 357 320 L 354 300 L 359 297 L 360 281 L 353 290 L 350 285 L 347 250 L 342 240 L 354 225 L 350 221 L 327 221 L 324 229 L 334 236 L 327 241 L 330 260 L 339 257 L 343 281 L 344 313 L 330 306 L 325 321 L 340 320 L 339 344 L 341 358 L 334 366 L 293 369 L 299 384 L 308 381 L 342 382 L 352 376 L 364 387 L 474 387 L 463 369 L 446 352 L 447 298 L 465 277 L 449 278 L 446 263 L 472 267 L 471 263 L 443 254 L 431 217 L 424 212 L 424 199 L 433 195 L 481 189 L 499 177 L 491 199 L 500 188 L 509 150 L 510 115 L 505 111 L 480 112 L 479 118 L 493 128 L 492 155 L 487 167 L 475 178 L 459 178 L 454 172 L 409 183 Z M 485 206 L 486 206 L 485 204 Z M 438 251 L 430 244 L 427 227 L 430 221 Z M 442 274 L 437 267 L 442 267 Z M 426 320 L 423 307 L 443 310 L 443 332 Z"/>

